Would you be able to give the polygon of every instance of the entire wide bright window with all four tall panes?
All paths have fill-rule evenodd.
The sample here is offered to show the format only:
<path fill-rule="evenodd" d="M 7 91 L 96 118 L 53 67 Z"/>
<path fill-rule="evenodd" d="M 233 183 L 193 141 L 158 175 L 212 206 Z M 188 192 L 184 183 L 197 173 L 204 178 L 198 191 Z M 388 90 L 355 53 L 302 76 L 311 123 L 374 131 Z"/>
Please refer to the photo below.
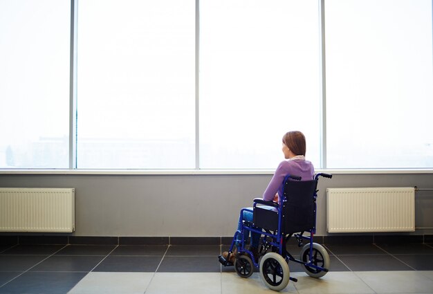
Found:
<path fill-rule="evenodd" d="M 430 0 L 0 1 L 0 169 L 274 169 L 290 130 L 316 169 L 433 169 L 432 23 Z"/>

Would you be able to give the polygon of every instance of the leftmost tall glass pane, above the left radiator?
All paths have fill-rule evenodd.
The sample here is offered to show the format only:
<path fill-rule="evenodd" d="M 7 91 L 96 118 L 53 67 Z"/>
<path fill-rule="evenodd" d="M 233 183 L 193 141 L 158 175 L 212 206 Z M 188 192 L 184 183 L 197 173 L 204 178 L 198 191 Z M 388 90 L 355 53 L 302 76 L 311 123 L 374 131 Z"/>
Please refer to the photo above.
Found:
<path fill-rule="evenodd" d="M 68 168 L 70 15 L 0 1 L 0 168 Z"/>

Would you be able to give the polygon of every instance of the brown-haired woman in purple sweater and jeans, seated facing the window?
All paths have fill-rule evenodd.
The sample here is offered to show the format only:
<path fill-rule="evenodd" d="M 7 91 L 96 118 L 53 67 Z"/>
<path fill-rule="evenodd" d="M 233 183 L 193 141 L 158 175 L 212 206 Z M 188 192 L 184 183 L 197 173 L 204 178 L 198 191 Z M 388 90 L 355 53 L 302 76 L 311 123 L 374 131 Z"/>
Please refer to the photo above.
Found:
<path fill-rule="evenodd" d="M 268 187 L 263 194 L 264 201 L 275 201 L 281 205 L 282 197 L 280 196 L 282 191 L 282 183 L 285 176 L 288 174 L 301 176 L 302 181 L 311 181 L 314 179 L 314 167 L 313 164 L 305 160 L 306 151 L 306 140 L 304 134 L 300 131 L 289 131 L 283 136 L 283 147 L 282 151 L 284 153 L 284 158 L 281 163 L 279 163 L 273 178 L 270 180 Z M 252 209 L 251 209 L 252 210 Z M 246 221 L 246 223 L 252 223 L 253 214 L 252 211 L 243 210 L 242 219 L 239 219 L 238 230 L 241 230 L 241 222 Z M 249 230 L 244 230 L 243 238 L 244 243 L 248 239 Z M 259 241 L 260 234 L 257 232 L 251 232 L 250 238 L 250 252 L 254 255 L 255 262 L 259 259 Z M 232 253 L 225 251 L 222 257 L 228 260 L 230 263 L 234 264 L 234 260 L 237 257 L 237 248 L 241 248 L 241 234 L 237 235 L 236 246 Z"/>

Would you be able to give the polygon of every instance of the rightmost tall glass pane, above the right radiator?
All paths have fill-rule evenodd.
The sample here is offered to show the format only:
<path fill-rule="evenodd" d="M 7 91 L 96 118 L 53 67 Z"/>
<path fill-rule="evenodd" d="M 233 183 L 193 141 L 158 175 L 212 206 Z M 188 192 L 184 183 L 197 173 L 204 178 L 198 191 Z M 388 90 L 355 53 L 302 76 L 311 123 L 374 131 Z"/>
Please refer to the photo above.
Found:
<path fill-rule="evenodd" d="M 325 4 L 326 167 L 433 167 L 432 1 Z"/>

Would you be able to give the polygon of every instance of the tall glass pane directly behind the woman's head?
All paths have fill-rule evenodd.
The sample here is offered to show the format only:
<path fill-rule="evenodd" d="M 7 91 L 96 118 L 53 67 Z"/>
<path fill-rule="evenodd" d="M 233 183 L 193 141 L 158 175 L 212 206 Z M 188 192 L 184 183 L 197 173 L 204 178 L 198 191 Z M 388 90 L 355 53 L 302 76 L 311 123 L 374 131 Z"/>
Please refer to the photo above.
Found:
<path fill-rule="evenodd" d="M 275 168 L 303 131 L 320 158 L 318 1 L 200 2 L 200 167 Z"/>

